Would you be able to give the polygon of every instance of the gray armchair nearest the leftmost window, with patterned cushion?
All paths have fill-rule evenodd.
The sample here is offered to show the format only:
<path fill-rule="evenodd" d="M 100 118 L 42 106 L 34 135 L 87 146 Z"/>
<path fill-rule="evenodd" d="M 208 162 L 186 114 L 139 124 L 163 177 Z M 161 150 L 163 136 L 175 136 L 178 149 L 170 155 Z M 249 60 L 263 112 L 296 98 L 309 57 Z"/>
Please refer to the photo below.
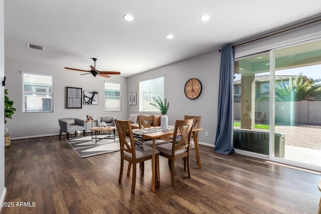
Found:
<path fill-rule="evenodd" d="M 75 132 L 76 131 L 83 131 L 85 136 L 85 120 L 81 120 L 78 118 L 60 118 L 58 119 L 59 126 L 60 126 L 60 135 L 59 140 L 61 137 L 62 132 L 67 133 L 67 139 L 69 140 L 69 132 Z"/>

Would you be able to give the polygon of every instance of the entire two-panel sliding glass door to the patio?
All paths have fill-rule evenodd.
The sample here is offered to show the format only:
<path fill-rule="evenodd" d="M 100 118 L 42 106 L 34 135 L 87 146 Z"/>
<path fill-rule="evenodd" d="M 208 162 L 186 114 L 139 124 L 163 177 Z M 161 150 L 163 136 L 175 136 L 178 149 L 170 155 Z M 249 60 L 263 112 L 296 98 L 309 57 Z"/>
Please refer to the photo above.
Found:
<path fill-rule="evenodd" d="M 235 60 L 234 143 L 299 166 L 321 166 L 321 40 Z"/>

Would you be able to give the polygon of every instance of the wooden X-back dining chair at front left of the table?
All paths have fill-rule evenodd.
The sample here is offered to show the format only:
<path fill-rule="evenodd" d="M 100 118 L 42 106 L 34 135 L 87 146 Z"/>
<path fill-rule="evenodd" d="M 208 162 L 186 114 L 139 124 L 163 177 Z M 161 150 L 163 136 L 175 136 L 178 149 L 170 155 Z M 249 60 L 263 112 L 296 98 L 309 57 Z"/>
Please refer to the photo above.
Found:
<path fill-rule="evenodd" d="M 115 119 L 120 143 L 120 171 L 118 182 L 121 182 L 124 160 L 127 160 L 129 166 L 132 164 L 132 183 L 131 192 L 135 192 L 136 184 L 136 164 L 142 163 L 152 158 L 152 148 L 143 146 L 143 149 L 135 147 L 134 138 L 129 120 Z M 127 138 L 126 138 L 127 137 Z M 129 139 L 128 139 L 129 138 Z M 129 142 L 128 142 L 128 140 Z M 155 149 L 155 170 L 156 178 L 159 180 L 159 151 Z M 127 169 L 127 175 L 130 173 L 130 167 Z"/>

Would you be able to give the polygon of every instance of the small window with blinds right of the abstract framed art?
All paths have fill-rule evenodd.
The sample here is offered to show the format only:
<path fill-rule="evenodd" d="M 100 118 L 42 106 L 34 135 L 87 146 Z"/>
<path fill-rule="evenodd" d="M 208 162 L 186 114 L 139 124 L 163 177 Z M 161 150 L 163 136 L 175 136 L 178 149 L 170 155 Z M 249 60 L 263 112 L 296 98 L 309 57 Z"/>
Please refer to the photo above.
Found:
<path fill-rule="evenodd" d="M 121 84 L 105 81 L 105 111 L 121 110 Z"/>

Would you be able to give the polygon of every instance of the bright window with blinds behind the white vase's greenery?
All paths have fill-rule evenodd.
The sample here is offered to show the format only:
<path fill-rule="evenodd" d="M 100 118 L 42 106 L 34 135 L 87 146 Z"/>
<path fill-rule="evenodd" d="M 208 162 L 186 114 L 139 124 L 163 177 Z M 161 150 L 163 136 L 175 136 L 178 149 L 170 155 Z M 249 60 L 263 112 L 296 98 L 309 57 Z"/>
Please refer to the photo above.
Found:
<path fill-rule="evenodd" d="M 155 103 L 152 98 L 164 100 L 164 76 L 139 82 L 139 111 L 158 111 L 149 103 Z"/>

